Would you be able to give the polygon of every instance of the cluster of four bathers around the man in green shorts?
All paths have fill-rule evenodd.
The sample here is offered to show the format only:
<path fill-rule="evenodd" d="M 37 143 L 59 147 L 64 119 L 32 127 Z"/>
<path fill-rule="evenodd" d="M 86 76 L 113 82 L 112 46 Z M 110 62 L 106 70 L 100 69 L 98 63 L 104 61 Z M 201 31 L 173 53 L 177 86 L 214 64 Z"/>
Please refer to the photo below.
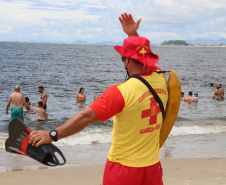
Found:
<path fill-rule="evenodd" d="M 8 114 L 8 109 L 10 105 L 11 107 L 11 119 L 12 121 L 14 118 L 19 117 L 21 120 L 24 121 L 24 113 L 30 112 L 30 114 L 38 113 L 38 121 L 45 121 L 48 120 L 48 115 L 46 113 L 47 109 L 47 94 L 44 92 L 44 87 L 39 86 L 38 92 L 41 93 L 41 99 L 38 102 L 38 105 L 30 103 L 28 97 L 24 97 L 24 95 L 20 92 L 20 86 L 16 85 L 14 87 L 14 93 L 9 95 L 8 103 L 6 106 L 6 115 Z M 30 105 L 38 107 L 35 111 L 31 111 Z"/>

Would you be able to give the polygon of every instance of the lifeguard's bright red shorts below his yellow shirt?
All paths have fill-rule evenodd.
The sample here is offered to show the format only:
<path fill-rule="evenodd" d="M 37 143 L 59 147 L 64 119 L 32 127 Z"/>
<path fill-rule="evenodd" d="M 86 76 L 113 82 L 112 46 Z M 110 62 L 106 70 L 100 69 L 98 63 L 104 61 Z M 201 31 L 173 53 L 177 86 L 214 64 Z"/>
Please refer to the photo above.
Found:
<path fill-rule="evenodd" d="M 103 185 L 163 185 L 161 163 L 135 168 L 107 160 Z"/>

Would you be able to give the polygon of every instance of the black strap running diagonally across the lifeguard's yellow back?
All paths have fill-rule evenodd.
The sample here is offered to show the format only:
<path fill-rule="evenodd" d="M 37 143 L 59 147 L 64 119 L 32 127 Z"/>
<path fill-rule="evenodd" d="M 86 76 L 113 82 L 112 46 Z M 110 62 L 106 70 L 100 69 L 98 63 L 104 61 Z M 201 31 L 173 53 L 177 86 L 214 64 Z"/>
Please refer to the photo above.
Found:
<path fill-rule="evenodd" d="M 162 111 L 162 118 L 164 119 L 165 117 L 165 111 L 164 111 L 164 107 L 163 107 L 163 103 L 162 100 L 159 98 L 159 96 L 157 95 L 157 93 L 155 92 L 155 90 L 151 87 L 151 85 L 141 76 L 137 75 L 137 74 L 133 74 L 130 76 L 131 78 L 137 78 L 138 80 L 140 80 L 141 82 L 143 82 L 148 89 L 151 91 L 152 95 L 154 96 L 155 100 L 158 102 L 160 109 Z"/>

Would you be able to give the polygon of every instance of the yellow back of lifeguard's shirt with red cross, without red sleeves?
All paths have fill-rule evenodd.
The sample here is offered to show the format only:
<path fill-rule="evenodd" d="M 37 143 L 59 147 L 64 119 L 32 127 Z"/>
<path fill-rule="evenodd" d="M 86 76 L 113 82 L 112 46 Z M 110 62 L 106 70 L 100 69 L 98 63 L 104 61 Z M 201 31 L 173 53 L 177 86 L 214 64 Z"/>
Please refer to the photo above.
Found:
<path fill-rule="evenodd" d="M 163 74 L 142 76 L 159 95 L 166 108 L 168 100 Z M 109 160 L 125 166 L 144 167 L 159 161 L 159 134 L 162 113 L 149 89 L 131 78 L 118 85 L 125 101 L 123 110 L 113 117 L 114 127 Z"/>

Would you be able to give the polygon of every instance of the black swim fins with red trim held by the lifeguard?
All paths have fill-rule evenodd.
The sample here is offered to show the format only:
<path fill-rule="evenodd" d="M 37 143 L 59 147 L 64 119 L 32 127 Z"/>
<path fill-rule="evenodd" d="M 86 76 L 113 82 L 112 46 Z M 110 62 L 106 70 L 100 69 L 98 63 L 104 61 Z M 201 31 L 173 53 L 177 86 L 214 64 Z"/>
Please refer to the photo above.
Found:
<path fill-rule="evenodd" d="M 47 166 L 57 166 L 66 163 L 63 153 L 52 143 L 34 147 L 29 144 L 31 130 L 20 118 L 15 118 L 9 123 L 9 138 L 5 142 L 7 152 L 29 156 Z M 58 153 L 63 162 L 60 163 L 55 153 Z"/>

